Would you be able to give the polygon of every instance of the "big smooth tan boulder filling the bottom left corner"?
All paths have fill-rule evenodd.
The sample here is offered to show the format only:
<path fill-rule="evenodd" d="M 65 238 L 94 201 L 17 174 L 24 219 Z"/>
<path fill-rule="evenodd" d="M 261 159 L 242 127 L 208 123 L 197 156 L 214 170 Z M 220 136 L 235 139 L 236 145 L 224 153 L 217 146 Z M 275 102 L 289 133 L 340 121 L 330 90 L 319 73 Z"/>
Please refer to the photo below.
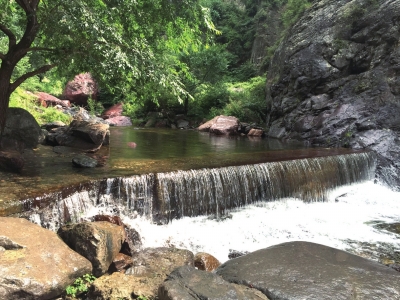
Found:
<path fill-rule="evenodd" d="M 0 299 L 53 299 L 90 262 L 52 231 L 25 219 L 0 217 Z"/>

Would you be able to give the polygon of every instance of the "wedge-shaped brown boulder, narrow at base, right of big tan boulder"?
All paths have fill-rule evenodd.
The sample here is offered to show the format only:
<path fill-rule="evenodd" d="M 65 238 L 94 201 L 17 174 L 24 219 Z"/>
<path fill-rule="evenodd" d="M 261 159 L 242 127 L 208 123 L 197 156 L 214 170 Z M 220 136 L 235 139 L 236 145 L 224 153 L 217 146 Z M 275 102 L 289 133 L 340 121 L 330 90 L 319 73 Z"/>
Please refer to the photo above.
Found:
<path fill-rule="evenodd" d="M 109 222 L 69 224 L 58 230 L 61 239 L 93 265 L 93 275 L 107 272 L 125 241 L 122 226 Z"/>

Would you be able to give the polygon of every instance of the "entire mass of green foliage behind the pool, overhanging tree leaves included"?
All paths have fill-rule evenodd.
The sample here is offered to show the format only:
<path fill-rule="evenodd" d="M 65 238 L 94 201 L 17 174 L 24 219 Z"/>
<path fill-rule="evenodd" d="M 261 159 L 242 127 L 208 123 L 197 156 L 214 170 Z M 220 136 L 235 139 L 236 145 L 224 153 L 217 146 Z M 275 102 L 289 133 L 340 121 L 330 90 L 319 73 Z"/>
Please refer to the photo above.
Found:
<path fill-rule="evenodd" d="M 133 118 L 163 109 L 198 119 L 230 114 L 259 123 L 267 112 L 266 68 L 251 60 L 257 28 L 267 26 L 268 11 L 275 9 L 286 30 L 310 2 L 0 0 L 2 68 L 13 53 L 11 41 L 18 46 L 31 35 L 11 77 L 0 71 L 0 87 L 7 82 L 12 92 L 24 82 L 25 89 L 57 96 L 74 75 L 91 72 L 101 86 L 99 101 L 105 106 L 122 101 Z M 27 33 L 31 14 L 23 8 L 35 3 L 37 27 Z M 265 65 L 277 43 L 266 49 Z M 45 77 L 40 74 L 53 67 Z M 0 103 L 9 96 L 0 93 Z M 28 107 L 29 99 L 19 90 L 11 105 Z M 35 116 L 42 122 L 58 117 L 54 111 L 46 114 Z"/>

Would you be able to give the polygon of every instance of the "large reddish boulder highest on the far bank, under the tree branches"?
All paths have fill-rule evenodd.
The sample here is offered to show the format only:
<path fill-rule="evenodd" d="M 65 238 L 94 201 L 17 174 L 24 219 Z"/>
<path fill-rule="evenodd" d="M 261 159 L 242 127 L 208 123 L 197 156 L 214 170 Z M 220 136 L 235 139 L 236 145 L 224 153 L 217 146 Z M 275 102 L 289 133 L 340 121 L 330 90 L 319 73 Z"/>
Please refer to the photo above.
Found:
<path fill-rule="evenodd" d="M 90 73 L 76 75 L 64 90 L 65 99 L 77 105 L 87 105 L 88 98 L 96 100 L 97 94 L 98 86 Z"/>

